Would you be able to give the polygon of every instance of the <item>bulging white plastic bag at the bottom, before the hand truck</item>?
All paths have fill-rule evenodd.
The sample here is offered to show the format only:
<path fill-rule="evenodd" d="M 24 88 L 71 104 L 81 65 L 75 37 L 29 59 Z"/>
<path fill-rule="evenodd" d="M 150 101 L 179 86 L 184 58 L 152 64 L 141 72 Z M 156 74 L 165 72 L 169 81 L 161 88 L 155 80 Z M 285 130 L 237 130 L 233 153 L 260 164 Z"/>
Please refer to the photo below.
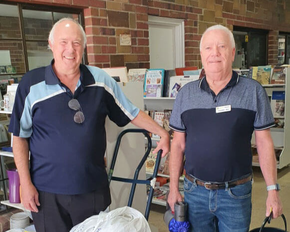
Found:
<path fill-rule="evenodd" d="M 70 232 L 151 232 L 148 222 L 137 210 L 117 208 L 109 213 L 101 212 L 73 227 Z"/>

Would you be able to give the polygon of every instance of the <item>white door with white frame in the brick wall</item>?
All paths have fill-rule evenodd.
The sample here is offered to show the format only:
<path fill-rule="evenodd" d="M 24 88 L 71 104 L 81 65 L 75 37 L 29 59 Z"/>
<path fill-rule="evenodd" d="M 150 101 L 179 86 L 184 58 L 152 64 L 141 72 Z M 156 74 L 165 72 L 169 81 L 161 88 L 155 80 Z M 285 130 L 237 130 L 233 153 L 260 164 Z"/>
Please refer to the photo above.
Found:
<path fill-rule="evenodd" d="M 149 16 L 150 68 L 185 66 L 184 20 Z"/>

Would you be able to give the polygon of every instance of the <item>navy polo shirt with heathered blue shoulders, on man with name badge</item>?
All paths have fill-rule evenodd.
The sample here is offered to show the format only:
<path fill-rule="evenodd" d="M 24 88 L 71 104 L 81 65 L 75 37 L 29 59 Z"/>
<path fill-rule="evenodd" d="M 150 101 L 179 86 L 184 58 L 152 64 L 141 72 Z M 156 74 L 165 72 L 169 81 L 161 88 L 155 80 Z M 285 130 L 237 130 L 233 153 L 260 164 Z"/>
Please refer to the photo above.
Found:
<path fill-rule="evenodd" d="M 216 107 L 231 106 L 216 112 Z M 170 128 L 186 133 L 185 170 L 203 181 L 226 182 L 252 172 L 254 130 L 274 126 L 270 101 L 263 86 L 233 71 L 218 95 L 206 77 L 178 92 Z"/>

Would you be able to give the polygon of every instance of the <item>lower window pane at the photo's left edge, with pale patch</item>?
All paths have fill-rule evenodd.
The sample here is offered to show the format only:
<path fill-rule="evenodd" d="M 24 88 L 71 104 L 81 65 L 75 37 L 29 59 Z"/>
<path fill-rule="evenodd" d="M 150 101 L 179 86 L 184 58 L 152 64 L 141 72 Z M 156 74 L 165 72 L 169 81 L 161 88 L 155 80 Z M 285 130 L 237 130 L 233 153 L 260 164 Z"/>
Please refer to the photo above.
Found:
<path fill-rule="evenodd" d="M 22 41 L 0 39 L 0 74 L 24 72 Z"/>

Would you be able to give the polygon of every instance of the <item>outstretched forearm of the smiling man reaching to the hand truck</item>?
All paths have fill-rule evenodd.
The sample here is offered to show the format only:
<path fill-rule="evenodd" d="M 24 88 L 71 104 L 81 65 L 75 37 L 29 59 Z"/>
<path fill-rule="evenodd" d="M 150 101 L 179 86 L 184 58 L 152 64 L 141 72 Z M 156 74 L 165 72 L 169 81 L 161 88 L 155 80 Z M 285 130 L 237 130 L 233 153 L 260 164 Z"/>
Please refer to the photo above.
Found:
<path fill-rule="evenodd" d="M 161 138 L 164 136 L 169 136 L 161 126 L 159 126 L 148 114 L 145 114 L 142 110 L 140 110 L 139 114 L 131 121 L 131 123 L 137 127 L 159 135 Z"/>

